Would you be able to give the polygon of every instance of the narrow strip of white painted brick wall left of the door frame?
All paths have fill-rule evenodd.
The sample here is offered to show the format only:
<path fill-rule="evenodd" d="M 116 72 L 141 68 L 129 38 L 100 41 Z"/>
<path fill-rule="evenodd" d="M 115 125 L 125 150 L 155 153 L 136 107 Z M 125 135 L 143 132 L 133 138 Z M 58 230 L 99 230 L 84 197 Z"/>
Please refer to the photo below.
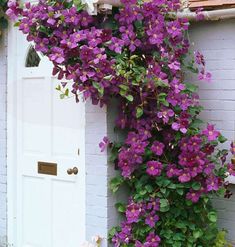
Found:
<path fill-rule="evenodd" d="M 7 37 L 0 38 L 0 246 L 5 246 L 7 229 L 6 179 L 6 76 Z"/>

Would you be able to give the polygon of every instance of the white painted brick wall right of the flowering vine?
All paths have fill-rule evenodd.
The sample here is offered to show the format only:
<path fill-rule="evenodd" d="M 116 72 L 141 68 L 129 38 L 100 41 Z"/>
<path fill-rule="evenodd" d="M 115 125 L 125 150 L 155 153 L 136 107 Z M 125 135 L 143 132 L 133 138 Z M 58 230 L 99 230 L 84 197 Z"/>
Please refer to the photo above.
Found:
<path fill-rule="evenodd" d="M 197 82 L 205 108 L 201 116 L 216 124 L 229 141 L 235 140 L 235 20 L 194 24 L 190 39 L 194 49 L 205 55 L 207 68 L 213 74 L 211 83 Z M 220 227 L 229 231 L 235 245 L 235 185 L 231 190 L 234 195 L 230 200 L 219 199 L 215 205 Z"/>

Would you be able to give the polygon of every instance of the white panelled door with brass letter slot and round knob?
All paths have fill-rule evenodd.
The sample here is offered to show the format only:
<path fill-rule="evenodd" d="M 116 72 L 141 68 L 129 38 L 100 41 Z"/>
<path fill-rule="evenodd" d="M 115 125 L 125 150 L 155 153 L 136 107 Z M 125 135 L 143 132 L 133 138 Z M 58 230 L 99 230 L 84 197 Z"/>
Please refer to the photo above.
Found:
<path fill-rule="evenodd" d="M 85 239 L 84 103 L 61 100 L 51 62 L 41 57 L 32 67 L 38 61 L 28 54 L 29 43 L 16 37 L 15 247 L 79 247 Z M 40 174 L 38 162 L 46 163 L 46 173 L 57 165 L 57 175 Z M 77 175 L 69 175 L 74 167 Z"/>

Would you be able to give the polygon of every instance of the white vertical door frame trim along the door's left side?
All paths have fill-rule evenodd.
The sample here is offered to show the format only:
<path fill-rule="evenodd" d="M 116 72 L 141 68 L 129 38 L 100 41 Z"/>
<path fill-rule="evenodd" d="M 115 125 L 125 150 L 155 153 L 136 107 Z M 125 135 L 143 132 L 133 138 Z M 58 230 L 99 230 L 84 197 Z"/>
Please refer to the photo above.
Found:
<path fill-rule="evenodd" d="M 16 247 L 16 162 L 15 162 L 15 86 L 16 85 L 16 54 L 17 35 L 13 24 L 8 32 L 7 59 L 7 235 L 8 246 Z"/>

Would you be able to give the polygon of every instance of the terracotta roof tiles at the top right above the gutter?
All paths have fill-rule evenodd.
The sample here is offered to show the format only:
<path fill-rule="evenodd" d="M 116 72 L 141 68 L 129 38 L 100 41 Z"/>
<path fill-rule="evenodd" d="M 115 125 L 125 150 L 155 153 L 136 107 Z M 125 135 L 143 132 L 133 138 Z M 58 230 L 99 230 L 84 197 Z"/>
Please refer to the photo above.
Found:
<path fill-rule="evenodd" d="M 235 7 L 235 0 L 189 0 L 189 8 L 222 9 Z"/>

